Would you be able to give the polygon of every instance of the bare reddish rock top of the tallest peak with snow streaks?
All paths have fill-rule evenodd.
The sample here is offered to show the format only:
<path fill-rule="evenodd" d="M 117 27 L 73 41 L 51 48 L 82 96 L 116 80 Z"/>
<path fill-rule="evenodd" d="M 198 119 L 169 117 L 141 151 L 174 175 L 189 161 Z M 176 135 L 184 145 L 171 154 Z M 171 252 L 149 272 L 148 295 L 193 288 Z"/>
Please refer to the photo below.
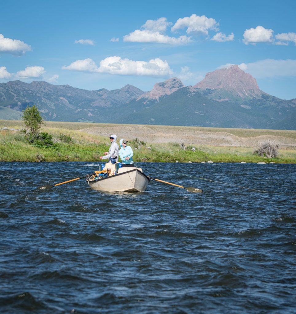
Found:
<path fill-rule="evenodd" d="M 260 98 L 265 94 L 251 74 L 245 73 L 238 65 L 215 70 L 206 74 L 205 78 L 193 86 L 194 88 L 208 91 L 215 100 L 229 100 L 233 97 L 247 99 Z"/>

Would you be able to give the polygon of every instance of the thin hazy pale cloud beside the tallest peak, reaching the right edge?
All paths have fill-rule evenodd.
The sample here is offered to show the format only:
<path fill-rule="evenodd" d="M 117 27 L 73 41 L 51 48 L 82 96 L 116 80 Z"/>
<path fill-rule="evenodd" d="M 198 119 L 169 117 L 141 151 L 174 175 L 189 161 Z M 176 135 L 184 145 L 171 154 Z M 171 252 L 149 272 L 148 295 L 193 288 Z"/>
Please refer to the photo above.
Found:
<path fill-rule="evenodd" d="M 221 65 L 218 69 L 228 68 L 232 63 Z M 296 76 L 296 60 L 265 59 L 256 62 L 241 63 L 238 67 L 250 73 L 255 78 L 270 78 L 276 76 Z"/>

